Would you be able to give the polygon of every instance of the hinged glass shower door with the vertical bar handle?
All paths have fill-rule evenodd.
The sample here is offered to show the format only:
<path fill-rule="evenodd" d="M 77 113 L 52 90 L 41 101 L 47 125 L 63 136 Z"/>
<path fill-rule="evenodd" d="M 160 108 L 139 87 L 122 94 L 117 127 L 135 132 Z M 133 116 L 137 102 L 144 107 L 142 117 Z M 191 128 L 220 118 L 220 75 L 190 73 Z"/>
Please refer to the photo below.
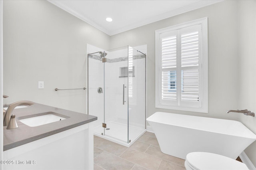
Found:
<path fill-rule="evenodd" d="M 105 136 L 128 143 L 128 46 L 105 53 Z"/>

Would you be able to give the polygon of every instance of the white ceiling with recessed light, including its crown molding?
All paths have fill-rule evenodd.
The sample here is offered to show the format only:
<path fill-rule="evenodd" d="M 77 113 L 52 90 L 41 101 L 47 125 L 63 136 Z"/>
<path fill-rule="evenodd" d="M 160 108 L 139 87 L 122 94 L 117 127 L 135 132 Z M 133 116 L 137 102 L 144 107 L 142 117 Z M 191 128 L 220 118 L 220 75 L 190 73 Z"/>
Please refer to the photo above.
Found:
<path fill-rule="evenodd" d="M 112 36 L 222 0 L 48 0 Z M 113 19 L 107 22 L 106 18 Z"/>

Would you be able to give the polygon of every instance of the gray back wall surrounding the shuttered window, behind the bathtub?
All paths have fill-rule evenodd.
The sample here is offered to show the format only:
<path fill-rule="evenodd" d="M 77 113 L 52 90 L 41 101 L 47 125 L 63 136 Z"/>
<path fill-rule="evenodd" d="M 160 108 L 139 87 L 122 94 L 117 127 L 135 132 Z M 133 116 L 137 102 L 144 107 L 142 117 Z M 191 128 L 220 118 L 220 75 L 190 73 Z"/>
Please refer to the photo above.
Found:
<path fill-rule="evenodd" d="M 148 45 L 148 117 L 157 111 L 164 111 L 238 119 L 236 114 L 226 114 L 238 104 L 237 8 L 235 1 L 220 2 L 111 36 L 111 48 L 126 44 Z M 203 17 L 208 17 L 208 114 L 155 108 L 155 30 Z"/>

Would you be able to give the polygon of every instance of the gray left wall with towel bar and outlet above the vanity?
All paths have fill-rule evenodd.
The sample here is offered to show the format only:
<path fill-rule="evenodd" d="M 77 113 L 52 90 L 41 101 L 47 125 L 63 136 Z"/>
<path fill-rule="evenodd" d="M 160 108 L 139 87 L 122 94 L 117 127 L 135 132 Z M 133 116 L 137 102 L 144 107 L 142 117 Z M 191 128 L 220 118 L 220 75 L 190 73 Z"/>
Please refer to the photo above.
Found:
<path fill-rule="evenodd" d="M 4 104 L 30 100 L 86 113 L 86 43 L 110 36 L 45 0 L 4 1 Z M 44 81 L 44 89 L 38 89 Z"/>

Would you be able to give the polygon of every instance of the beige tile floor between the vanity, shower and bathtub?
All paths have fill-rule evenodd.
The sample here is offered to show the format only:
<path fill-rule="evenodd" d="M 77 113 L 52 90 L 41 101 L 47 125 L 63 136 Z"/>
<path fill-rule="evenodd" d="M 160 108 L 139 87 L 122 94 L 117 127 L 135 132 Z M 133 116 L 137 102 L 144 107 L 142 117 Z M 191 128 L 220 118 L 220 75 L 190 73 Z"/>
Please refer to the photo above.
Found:
<path fill-rule="evenodd" d="M 162 153 L 154 133 L 145 132 L 130 148 L 94 136 L 94 170 L 185 170 L 184 162 Z"/>

